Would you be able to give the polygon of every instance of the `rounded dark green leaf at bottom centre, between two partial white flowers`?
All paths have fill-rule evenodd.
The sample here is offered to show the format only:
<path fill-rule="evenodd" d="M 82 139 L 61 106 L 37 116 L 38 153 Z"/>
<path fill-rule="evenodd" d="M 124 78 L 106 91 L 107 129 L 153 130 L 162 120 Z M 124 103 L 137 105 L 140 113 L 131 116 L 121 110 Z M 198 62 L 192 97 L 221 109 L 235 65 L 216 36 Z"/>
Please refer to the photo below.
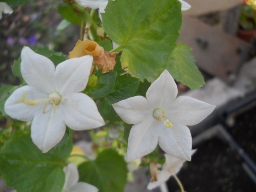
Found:
<path fill-rule="evenodd" d="M 87 161 L 78 167 L 80 181 L 90 183 L 99 192 L 123 192 L 127 167 L 124 158 L 115 150 L 106 149 L 95 161 Z"/>

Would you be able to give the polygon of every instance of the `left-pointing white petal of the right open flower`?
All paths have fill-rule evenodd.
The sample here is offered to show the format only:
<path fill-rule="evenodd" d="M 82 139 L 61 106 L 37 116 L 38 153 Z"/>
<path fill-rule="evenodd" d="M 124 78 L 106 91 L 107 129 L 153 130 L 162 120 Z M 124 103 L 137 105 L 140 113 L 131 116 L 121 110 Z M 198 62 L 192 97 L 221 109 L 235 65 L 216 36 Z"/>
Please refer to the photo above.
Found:
<path fill-rule="evenodd" d="M 112 104 L 114 110 L 120 118 L 128 124 L 142 122 L 150 111 L 148 100 L 143 96 L 130 97 L 115 104 Z"/>

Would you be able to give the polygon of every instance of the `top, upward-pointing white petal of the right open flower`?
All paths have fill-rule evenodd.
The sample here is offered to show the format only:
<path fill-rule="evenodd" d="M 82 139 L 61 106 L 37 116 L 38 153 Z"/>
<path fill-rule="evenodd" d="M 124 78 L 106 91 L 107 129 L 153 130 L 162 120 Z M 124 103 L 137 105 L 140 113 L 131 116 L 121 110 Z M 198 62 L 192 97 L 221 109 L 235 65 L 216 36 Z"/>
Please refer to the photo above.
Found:
<path fill-rule="evenodd" d="M 148 88 L 146 98 L 154 107 L 162 108 L 172 103 L 177 94 L 178 89 L 174 79 L 167 70 L 164 70 Z"/>

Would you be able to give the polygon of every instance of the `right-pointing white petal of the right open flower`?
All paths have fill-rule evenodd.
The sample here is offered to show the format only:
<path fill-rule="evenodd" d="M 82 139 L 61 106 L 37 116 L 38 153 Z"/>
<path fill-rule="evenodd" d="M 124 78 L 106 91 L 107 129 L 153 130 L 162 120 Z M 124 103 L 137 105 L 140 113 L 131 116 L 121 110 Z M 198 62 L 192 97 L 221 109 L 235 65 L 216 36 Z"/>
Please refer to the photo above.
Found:
<path fill-rule="evenodd" d="M 170 122 L 195 125 L 212 113 L 215 106 L 189 96 L 179 96 L 166 110 Z"/>

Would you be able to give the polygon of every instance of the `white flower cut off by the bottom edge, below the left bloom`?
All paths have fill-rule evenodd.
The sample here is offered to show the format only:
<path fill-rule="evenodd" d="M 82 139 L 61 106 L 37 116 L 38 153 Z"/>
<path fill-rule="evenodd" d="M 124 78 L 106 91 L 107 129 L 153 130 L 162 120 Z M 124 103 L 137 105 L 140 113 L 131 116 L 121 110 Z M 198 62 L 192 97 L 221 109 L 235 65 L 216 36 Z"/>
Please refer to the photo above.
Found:
<path fill-rule="evenodd" d="M 62 192 L 98 192 L 98 188 L 86 182 L 78 182 L 79 174 L 75 163 L 70 163 L 65 172 L 65 184 Z"/>

